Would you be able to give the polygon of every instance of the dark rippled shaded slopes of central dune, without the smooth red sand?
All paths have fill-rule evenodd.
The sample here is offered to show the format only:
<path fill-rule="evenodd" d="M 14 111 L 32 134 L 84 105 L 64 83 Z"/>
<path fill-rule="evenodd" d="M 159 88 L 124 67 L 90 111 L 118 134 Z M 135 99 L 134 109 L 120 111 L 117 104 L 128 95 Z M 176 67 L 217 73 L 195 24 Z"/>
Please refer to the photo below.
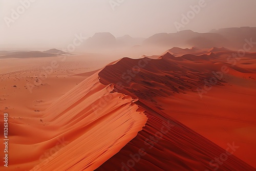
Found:
<path fill-rule="evenodd" d="M 212 163 L 210 165 L 211 160 L 226 153 L 226 147 L 220 147 L 189 129 L 174 119 L 172 113 L 166 113 L 168 111 L 165 111 L 162 106 L 168 103 L 168 101 L 162 102 L 166 97 L 175 99 L 180 96 L 179 94 L 190 95 L 191 93 L 195 94 L 194 98 L 197 97 L 197 88 L 204 86 L 202 78 L 211 78 L 213 76 L 211 71 L 219 71 L 223 63 L 230 69 L 236 68 L 229 65 L 225 59 L 225 57 L 218 57 L 215 54 L 199 57 L 184 55 L 178 58 L 166 53 L 159 59 L 152 59 L 146 67 L 140 69 L 138 74 L 131 77 L 130 82 L 123 81 L 123 88 L 120 88 L 119 82 L 122 73 L 131 70 L 141 59 L 123 58 L 115 65 L 102 70 L 99 73 L 100 81 L 103 84 L 111 82 L 114 84 L 114 91 L 138 98 L 136 103 L 146 111 L 148 120 L 136 138 L 97 170 L 212 170 L 214 168 L 219 170 L 255 170 L 254 167 L 234 155 L 228 156 L 221 164 Z M 216 64 L 216 61 L 220 63 Z M 255 72 L 250 70 L 249 73 L 255 76 Z M 224 78 L 219 79 L 216 87 L 225 87 L 227 84 Z M 180 109 L 179 106 L 174 107 Z M 168 132 L 162 134 L 161 138 L 157 138 L 156 133 L 161 132 L 163 123 L 167 125 Z M 248 123 L 255 124 L 255 119 Z M 251 149 L 252 147 L 250 145 Z M 146 154 L 141 155 L 138 162 L 134 161 L 134 164 L 131 164 L 133 159 L 131 155 L 138 154 L 138 148 L 144 149 Z M 130 166 L 128 167 L 129 161 Z"/>

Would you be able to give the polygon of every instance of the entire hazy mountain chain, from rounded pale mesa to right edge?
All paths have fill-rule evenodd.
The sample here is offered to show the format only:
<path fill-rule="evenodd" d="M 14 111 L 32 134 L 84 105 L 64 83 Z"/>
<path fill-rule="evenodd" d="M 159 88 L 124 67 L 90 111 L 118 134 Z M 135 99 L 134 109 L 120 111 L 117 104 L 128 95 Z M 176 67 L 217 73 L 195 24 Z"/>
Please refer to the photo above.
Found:
<path fill-rule="evenodd" d="M 107 50 L 113 51 L 128 50 L 132 47 L 134 52 L 147 53 L 151 51 L 164 51 L 172 47 L 190 48 L 197 47 L 199 49 L 210 49 L 212 47 L 225 47 L 230 50 L 239 50 L 244 48 L 245 39 L 256 42 L 256 28 L 226 28 L 219 30 L 211 30 L 209 33 L 197 33 L 191 30 L 184 30 L 177 33 L 157 33 L 148 38 L 134 38 L 130 35 L 115 37 L 109 32 L 95 33 L 84 43 L 85 50 Z M 221 50 L 221 49 L 213 49 Z M 223 49 L 224 50 L 224 49 Z M 256 46 L 250 51 L 256 51 Z"/>

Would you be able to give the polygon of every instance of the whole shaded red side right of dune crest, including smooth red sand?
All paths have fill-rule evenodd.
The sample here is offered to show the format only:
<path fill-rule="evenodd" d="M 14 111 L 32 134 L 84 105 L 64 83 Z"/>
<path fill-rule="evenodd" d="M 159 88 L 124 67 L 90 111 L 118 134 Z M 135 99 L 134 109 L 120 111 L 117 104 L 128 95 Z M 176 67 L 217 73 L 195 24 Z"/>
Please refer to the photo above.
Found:
<path fill-rule="evenodd" d="M 219 51 L 216 48 L 211 50 Z M 249 138 L 253 136 L 253 130 L 256 128 L 253 116 L 255 107 L 253 102 L 247 102 L 255 99 L 253 87 L 256 86 L 256 74 L 255 71 L 246 69 L 242 63 L 240 65 L 240 62 L 237 63 L 238 66 L 227 63 L 226 59 L 232 52 L 222 50 L 224 49 L 216 54 L 184 55 L 179 58 L 166 53 L 157 60 L 123 58 L 99 72 L 100 82 L 111 82 L 115 92 L 138 98 L 136 103 L 146 111 L 148 120 L 135 139 L 97 170 L 254 170 L 244 161 L 255 165 L 251 158 L 255 151 L 252 144 L 255 144 L 256 140 Z M 255 65 L 255 55 L 251 58 L 248 53 L 242 61 L 253 61 Z M 230 71 L 218 79 L 212 88 L 213 93 L 209 92 L 209 96 L 201 99 L 198 88 L 205 86 L 204 80 L 216 77 L 212 72 L 219 72 L 223 65 Z M 249 76 L 253 77 L 253 80 L 247 80 L 248 85 L 239 85 L 236 82 L 242 77 L 249 79 Z M 233 88 L 230 88 L 230 84 Z M 214 90 L 215 88 L 217 90 Z M 233 91 L 246 91 L 246 94 L 249 94 L 246 102 L 239 99 L 239 92 L 236 94 Z M 225 96 L 230 96 L 226 100 L 234 100 L 244 106 L 246 113 L 237 116 L 236 110 L 240 109 L 238 106 L 227 110 L 233 105 L 220 101 Z M 179 97 L 183 99 L 179 99 L 180 102 L 175 100 Z M 208 109 L 204 109 L 205 105 Z M 209 107 L 217 109 L 214 113 L 208 113 Z M 193 121 L 186 119 L 186 114 Z M 206 127 L 209 130 L 202 128 L 205 124 L 208 124 Z M 214 131 L 215 127 L 217 131 Z M 219 127 L 228 131 L 223 134 L 223 130 L 218 130 Z M 197 130 L 197 133 L 191 129 Z M 244 129 L 248 131 L 248 139 L 241 135 L 241 132 L 237 132 Z M 223 138 L 225 136 L 226 138 Z M 234 138 L 236 136 L 238 138 Z M 214 161 L 226 153 L 225 149 L 228 151 L 227 147 L 231 143 L 236 144 L 240 151 L 230 152 L 234 155 L 228 155 L 224 162 Z M 144 153 L 141 153 L 141 150 Z"/>

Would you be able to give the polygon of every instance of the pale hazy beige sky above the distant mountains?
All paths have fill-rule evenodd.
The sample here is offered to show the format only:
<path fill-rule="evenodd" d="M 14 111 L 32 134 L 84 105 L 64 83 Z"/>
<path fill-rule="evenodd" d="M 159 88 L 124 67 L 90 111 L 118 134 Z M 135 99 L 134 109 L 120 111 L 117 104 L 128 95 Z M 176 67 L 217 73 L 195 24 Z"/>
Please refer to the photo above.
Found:
<path fill-rule="evenodd" d="M 34 1 L 34 2 L 30 2 Z M 21 2 L 30 2 L 27 9 Z M 116 5 L 111 6 L 110 2 Z M 118 3 L 119 2 L 119 3 Z M 0 0 L 0 48 L 65 46 L 75 34 L 148 37 L 177 32 L 175 22 L 200 0 Z M 181 30 L 256 27 L 255 0 L 205 0 Z M 25 10 L 24 10 L 25 9 Z M 114 10 L 113 10 L 114 9 Z M 19 16 L 15 15 L 16 12 Z M 181 23 L 182 24 L 182 23 Z M 9 27 L 8 27 L 9 25 Z M 5 44 L 5 45 L 3 45 Z"/>

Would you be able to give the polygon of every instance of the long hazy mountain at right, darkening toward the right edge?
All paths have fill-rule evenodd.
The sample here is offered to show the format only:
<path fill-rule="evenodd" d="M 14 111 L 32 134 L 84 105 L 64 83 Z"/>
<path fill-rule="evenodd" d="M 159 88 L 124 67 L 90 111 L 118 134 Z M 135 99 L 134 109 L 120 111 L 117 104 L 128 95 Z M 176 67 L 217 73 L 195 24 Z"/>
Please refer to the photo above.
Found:
<path fill-rule="evenodd" d="M 144 46 L 159 47 L 198 47 L 201 49 L 212 47 L 226 47 L 231 50 L 244 48 L 245 39 L 256 42 L 256 28 L 225 28 L 211 30 L 209 33 L 197 33 L 191 30 L 184 30 L 177 33 L 158 33 L 148 37 Z M 254 45 L 250 51 L 256 51 Z"/>

